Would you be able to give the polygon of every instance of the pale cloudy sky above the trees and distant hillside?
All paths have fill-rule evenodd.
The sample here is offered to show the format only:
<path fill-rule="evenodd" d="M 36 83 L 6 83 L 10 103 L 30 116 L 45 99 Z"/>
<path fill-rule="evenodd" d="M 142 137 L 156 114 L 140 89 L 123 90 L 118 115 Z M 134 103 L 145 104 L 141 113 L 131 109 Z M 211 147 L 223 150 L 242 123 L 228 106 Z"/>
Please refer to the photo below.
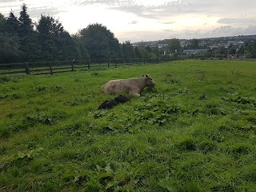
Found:
<path fill-rule="evenodd" d="M 23 3 L 34 22 L 50 15 L 70 34 L 98 22 L 121 43 L 256 34 L 252 0 L 0 0 L 0 13 Z"/>

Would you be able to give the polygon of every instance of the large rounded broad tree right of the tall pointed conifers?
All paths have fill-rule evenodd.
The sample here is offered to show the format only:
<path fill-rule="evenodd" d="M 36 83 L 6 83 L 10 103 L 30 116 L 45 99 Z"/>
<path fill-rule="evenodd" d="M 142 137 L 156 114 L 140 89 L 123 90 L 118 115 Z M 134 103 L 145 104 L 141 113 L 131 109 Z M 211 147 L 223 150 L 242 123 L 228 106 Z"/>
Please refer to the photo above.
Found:
<path fill-rule="evenodd" d="M 79 34 L 91 59 L 118 58 L 122 54 L 118 39 L 102 24 L 91 24 Z"/>

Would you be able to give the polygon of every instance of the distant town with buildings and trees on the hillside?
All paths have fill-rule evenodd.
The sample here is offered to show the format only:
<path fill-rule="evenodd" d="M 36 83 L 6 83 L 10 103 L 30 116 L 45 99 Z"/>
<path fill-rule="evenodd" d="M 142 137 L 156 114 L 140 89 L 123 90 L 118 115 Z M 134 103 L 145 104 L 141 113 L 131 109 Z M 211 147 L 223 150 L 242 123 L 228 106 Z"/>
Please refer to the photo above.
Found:
<path fill-rule="evenodd" d="M 191 58 L 253 58 L 250 55 L 250 46 L 256 39 L 255 35 L 239 35 L 221 38 L 200 39 L 164 39 L 152 42 L 134 42 L 133 46 L 150 47 L 158 49 L 162 55 L 174 54 L 190 55 Z M 250 50 L 248 50 L 250 46 Z"/>

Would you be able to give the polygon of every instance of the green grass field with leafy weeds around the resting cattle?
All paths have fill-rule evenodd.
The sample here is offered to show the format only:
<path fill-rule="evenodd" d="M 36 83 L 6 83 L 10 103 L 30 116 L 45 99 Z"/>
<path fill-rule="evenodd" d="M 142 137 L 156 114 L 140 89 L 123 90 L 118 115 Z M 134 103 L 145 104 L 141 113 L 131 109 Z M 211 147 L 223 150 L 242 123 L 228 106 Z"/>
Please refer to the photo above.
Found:
<path fill-rule="evenodd" d="M 101 86 L 150 74 L 111 110 Z M 0 191 L 256 191 L 256 62 L 0 76 Z"/>

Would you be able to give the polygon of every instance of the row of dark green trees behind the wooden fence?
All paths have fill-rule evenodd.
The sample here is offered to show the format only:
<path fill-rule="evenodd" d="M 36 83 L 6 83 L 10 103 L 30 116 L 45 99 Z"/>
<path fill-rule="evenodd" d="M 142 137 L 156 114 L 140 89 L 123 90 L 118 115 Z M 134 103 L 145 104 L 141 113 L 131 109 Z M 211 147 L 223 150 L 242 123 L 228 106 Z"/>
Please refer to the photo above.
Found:
<path fill-rule="evenodd" d="M 0 63 L 78 60 L 90 62 L 111 58 L 156 58 L 158 50 L 119 43 L 114 34 L 94 23 L 70 35 L 58 19 L 41 14 L 33 22 L 26 4 L 19 17 L 0 13 Z"/>

